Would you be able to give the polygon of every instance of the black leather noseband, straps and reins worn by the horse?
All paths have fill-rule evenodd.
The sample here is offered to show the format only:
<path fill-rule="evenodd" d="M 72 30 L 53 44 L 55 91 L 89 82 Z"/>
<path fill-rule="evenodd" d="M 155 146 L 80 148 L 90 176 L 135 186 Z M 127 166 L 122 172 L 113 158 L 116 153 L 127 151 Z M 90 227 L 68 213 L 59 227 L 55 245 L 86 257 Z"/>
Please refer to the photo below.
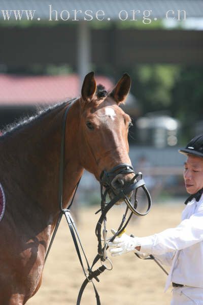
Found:
<path fill-rule="evenodd" d="M 114 190 L 112 188 L 111 182 L 112 180 L 119 174 L 129 174 L 129 173 L 134 173 L 134 169 L 131 165 L 125 164 L 125 163 L 121 163 L 117 166 L 115 166 L 114 168 L 112 168 L 110 171 L 103 171 L 100 175 L 100 193 L 101 193 L 101 208 L 95 213 L 97 214 L 99 211 L 101 212 L 101 215 L 99 217 L 99 220 L 96 224 L 96 228 L 95 228 L 95 233 L 97 236 L 97 240 L 98 240 L 98 251 L 97 251 L 97 255 L 93 260 L 93 263 L 90 267 L 87 257 L 85 255 L 85 252 L 83 250 L 81 241 L 80 241 L 80 237 L 77 231 L 77 227 L 75 225 L 75 222 L 71 216 L 70 213 L 70 207 L 73 203 L 76 191 L 78 189 L 78 185 L 80 182 L 80 179 L 75 187 L 75 191 L 74 191 L 74 195 L 72 197 L 71 203 L 69 204 L 69 206 L 67 208 L 63 208 L 63 201 L 62 201 L 62 195 L 63 195 L 63 164 L 64 164 L 64 145 L 65 145 L 65 125 L 66 125 L 66 117 L 67 117 L 67 113 L 70 110 L 70 107 L 72 106 L 72 104 L 76 101 L 77 99 L 73 99 L 70 100 L 67 105 L 67 108 L 64 112 L 63 115 L 63 121 L 62 121 L 62 134 L 61 134 L 61 151 L 60 151 L 60 165 L 59 165 L 59 193 L 58 193 L 58 199 L 59 199 L 59 216 L 58 216 L 58 220 L 54 229 L 54 232 L 52 234 L 52 238 L 45 256 L 45 262 L 46 259 L 48 257 L 49 251 L 51 249 L 54 237 L 56 235 L 57 229 L 59 227 L 61 218 L 63 215 L 65 215 L 67 224 L 69 225 L 72 237 L 73 237 L 73 241 L 75 244 L 75 248 L 84 272 L 84 275 L 86 277 L 85 281 L 83 282 L 80 291 L 79 291 L 79 295 L 78 295 L 78 299 L 77 299 L 77 305 L 80 305 L 80 301 L 82 298 L 82 294 L 83 291 L 86 287 L 86 285 L 91 282 L 94 288 L 94 292 L 95 292 L 95 297 L 96 297 L 96 301 L 97 301 L 97 305 L 100 305 L 100 300 L 99 300 L 99 295 L 98 292 L 94 286 L 94 283 L 92 282 L 92 279 L 95 279 L 97 282 L 99 282 L 98 280 L 98 276 L 100 275 L 100 273 L 104 272 L 106 269 L 111 270 L 112 269 L 112 263 L 110 261 L 110 259 L 107 257 L 107 249 L 108 249 L 108 243 L 107 243 L 107 229 L 106 229 L 106 220 L 107 220 L 107 213 L 108 211 L 111 209 L 111 207 L 118 201 L 120 201 L 121 199 L 126 203 L 127 207 L 126 207 L 126 211 L 125 214 L 123 215 L 122 221 L 120 226 L 118 227 L 117 232 L 114 234 L 114 236 L 110 239 L 110 241 L 113 241 L 115 239 L 116 236 L 118 236 L 119 234 L 121 234 L 123 232 L 123 230 L 125 229 L 125 227 L 127 226 L 127 224 L 129 223 L 129 220 L 131 219 L 133 214 L 136 214 L 137 216 L 145 216 L 148 214 L 150 207 L 151 207 L 151 197 L 150 194 L 147 190 L 147 188 L 145 187 L 145 181 L 142 179 L 142 173 L 138 173 L 135 174 L 134 177 L 127 182 L 126 185 L 124 185 L 121 189 L 121 191 L 119 192 L 119 194 L 115 195 L 114 198 L 110 201 L 110 202 L 106 202 L 106 197 L 109 191 L 112 191 L 114 194 Z M 145 213 L 141 213 L 137 210 L 137 206 L 138 206 L 138 200 L 137 200 L 137 192 L 138 189 L 142 188 L 147 196 L 148 199 L 148 208 L 146 210 Z M 130 194 L 131 192 L 134 191 L 134 203 L 133 205 L 130 202 L 130 198 L 128 197 L 128 194 Z M 128 210 L 130 210 L 130 215 L 126 221 L 126 215 Z M 104 229 L 103 229 L 103 240 L 104 240 L 104 247 L 101 246 L 101 227 L 104 224 Z M 79 245 L 78 242 L 79 241 L 79 245 L 80 248 L 82 250 L 82 253 L 84 255 L 85 261 L 87 263 L 87 270 L 88 270 L 88 275 L 85 271 L 83 262 L 82 262 L 82 257 L 80 254 L 80 250 L 79 250 Z M 93 266 L 95 265 L 95 263 L 100 259 L 101 261 L 101 266 L 98 267 L 96 270 L 92 270 Z M 104 262 L 108 260 L 111 264 L 111 267 L 108 268 Z"/>

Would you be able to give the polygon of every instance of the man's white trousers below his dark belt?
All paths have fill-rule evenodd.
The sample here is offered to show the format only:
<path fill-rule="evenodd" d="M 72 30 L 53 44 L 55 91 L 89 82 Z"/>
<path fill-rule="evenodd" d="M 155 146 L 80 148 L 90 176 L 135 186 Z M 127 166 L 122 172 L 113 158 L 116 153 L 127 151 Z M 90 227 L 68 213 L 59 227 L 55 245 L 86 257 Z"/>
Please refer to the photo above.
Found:
<path fill-rule="evenodd" d="M 171 305 L 203 305 L 203 288 L 176 287 L 172 293 Z"/>

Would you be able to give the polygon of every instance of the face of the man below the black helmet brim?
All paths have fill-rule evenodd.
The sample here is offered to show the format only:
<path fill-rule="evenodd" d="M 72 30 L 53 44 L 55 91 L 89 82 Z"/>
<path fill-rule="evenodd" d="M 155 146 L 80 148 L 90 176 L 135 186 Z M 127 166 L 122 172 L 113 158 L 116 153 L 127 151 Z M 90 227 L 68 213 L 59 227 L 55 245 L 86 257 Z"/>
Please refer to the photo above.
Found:
<path fill-rule="evenodd" d="M 203 188 L 203 158 L 188 155 L 184 167 L 186 191 L 195 194 Z"/>

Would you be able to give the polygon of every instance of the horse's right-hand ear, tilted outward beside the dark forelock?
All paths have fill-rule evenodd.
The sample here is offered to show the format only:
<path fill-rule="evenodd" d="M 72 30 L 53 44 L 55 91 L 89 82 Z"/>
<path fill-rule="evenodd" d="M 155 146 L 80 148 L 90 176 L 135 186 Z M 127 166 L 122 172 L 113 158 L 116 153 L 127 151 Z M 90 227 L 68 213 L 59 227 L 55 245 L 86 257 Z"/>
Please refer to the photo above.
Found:
<path fill-rule="evenodd" d="M 130 90 L 131 80 L 127 73 L 123 74 L 121 79 L 112 90 L 110 96 L 118 103 L 124 103 L 125 98 Z"/>

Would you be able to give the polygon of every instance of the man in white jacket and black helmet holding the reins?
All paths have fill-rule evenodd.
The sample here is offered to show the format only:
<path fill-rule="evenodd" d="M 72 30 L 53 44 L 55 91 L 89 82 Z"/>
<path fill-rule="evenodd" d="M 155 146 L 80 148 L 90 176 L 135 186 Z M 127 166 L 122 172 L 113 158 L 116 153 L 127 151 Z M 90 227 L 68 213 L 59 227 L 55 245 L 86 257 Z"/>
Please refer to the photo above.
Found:
<path fill-rule="evenodd" d="M 165 290 L 172 285 L 171 305 L 203 304 L 203 135 L 193 138 L 179 153 L 187 156 L 184 181 L 190 197 L 176 228 L 146 237 L 123 234 L 109 242 L 112 256 L 128 252 L 153 254 L 171 266 Z"/>

